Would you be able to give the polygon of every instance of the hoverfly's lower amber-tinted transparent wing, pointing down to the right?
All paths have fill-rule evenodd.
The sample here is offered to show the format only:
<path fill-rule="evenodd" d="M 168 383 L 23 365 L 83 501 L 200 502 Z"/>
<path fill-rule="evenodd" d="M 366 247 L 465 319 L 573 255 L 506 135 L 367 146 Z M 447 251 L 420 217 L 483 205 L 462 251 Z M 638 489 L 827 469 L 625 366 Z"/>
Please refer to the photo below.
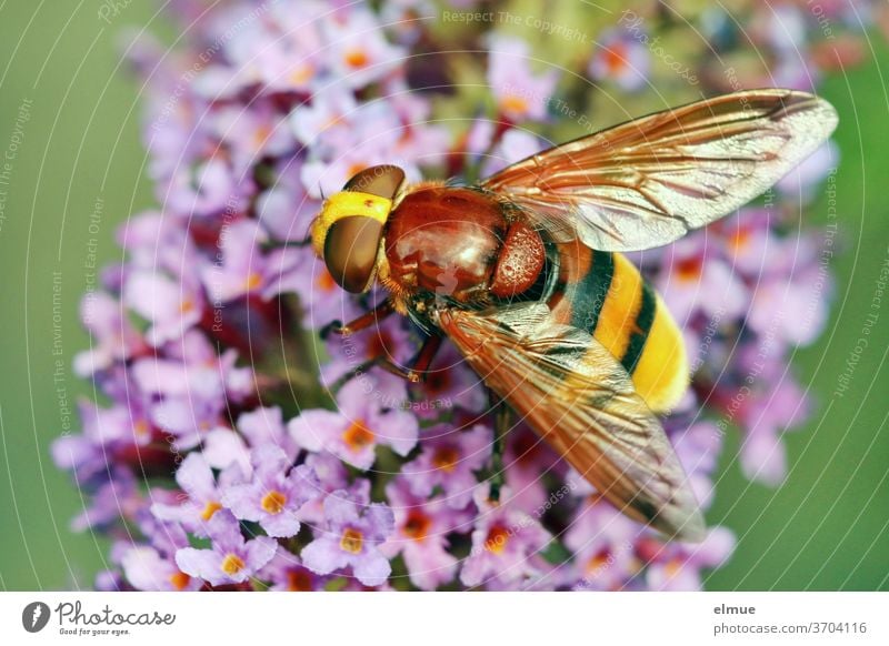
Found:
<path fill-rule="evenodd" d="M 703 537 L 660 423 L 591 335 L 552 323 L 540 303 L 447 310 L 438 324 L 488 387 L 619 509 L 681 541 Z"/>

